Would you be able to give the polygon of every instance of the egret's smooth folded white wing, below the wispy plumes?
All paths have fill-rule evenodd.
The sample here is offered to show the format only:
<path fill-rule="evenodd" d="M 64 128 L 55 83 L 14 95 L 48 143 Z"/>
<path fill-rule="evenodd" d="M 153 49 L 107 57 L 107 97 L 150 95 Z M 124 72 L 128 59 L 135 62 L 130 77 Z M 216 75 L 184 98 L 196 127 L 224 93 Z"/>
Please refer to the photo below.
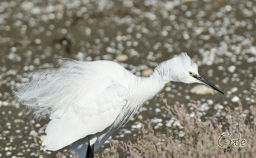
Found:
<path fill-rule="evenodd" d="M 124 86 L 110 87 L 91 97 L 81 98 L 69 109 L 52 112 L 42 143 L 48 150 L 58 150 L 87 135 L 103 131 L 113 124 L 129 98 Z M 60 117 L 61 116 L 61 117 Z M 118 117 L 121 118 L 121 117 Z"/>

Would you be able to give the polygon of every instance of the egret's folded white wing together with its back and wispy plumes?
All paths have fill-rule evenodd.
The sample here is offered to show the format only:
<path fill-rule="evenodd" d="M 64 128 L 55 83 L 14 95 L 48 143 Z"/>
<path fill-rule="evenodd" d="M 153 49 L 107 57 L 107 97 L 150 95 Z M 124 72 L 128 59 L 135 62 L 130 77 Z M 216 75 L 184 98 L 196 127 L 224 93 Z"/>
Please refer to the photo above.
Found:
<path fill-rule="evenodd" d="M 98 132 L 120 125 L 129 98 L 124 67 L 68 59 L 58 67 L 33 71 L 28 82 L 16 87 L 15 99 L 37 119 L 50 116 L 42 143 L 46 149 L 58 150 L 95 133 L 101 134 L 101 144 L 107 133 Z"/>

